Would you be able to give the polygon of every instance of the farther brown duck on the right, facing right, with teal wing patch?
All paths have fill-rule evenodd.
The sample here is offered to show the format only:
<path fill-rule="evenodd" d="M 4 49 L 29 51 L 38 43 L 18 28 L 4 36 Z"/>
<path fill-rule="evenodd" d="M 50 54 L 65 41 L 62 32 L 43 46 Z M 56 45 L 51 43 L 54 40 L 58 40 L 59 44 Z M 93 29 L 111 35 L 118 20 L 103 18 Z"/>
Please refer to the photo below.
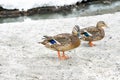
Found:
<path fill-rule="evenodd" d="M 82 36 L 81 40 L 88 41 L 90 47 L 95 46 L 95 44 L 93 44 L 93 41 L 98 41 L 105 37 L 104 28 L 106 27 L 107 25 L 104 21 L 98 21 L 96 26 L 80 29 L 80 34 Z"/>

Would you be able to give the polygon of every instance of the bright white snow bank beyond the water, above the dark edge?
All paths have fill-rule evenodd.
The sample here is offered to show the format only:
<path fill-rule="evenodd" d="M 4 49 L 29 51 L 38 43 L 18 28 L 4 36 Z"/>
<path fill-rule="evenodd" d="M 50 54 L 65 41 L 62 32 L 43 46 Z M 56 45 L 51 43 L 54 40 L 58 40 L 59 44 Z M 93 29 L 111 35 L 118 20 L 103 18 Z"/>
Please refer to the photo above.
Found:
<path fill-rule="evenodd" d="M 6 9 L 27 10 L 41 6 L 64 6 L 81 2 L 82 0 L 0 0 L 0 5 Z"/>

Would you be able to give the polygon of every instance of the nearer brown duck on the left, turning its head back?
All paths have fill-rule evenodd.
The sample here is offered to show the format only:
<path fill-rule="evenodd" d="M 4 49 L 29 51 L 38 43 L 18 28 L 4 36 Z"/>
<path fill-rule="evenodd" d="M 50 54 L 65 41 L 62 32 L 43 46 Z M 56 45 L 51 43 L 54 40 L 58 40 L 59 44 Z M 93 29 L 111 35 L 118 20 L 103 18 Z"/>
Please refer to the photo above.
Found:
<path fill-rule="evenodd" d="M 73 27 L 72 33 L 61 33 L 54 36 L 43 37 L 44 40 L 39 43 L 43 44 L 46 48 L 57 51 L 60 60 L 69 59 L 69 57 L 65 55 L 65 51 L 75 49 L 81 43 L 80 28 L 78 25 Z M 60 52 L 62 52 L 62 54 Z"/>

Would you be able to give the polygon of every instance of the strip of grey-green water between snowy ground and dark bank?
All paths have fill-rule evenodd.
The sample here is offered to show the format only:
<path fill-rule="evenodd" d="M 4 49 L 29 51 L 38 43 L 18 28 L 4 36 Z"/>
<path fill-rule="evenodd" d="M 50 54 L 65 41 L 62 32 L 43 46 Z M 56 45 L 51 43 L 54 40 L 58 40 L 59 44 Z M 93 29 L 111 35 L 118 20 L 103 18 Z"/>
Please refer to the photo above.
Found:
<path fill-rule="evenodd" d="M 58 19 L 58 18 L 70 18 L 70 17 L 80 17 L 80 16 L 93 16 L 93 15 L 101 15 L 107 13 L 120 12 L 120 1 L 113 2 L 111 4 L 94 4 L 89 7 L 85 7 L 84 9 L 73 9 L 71 13 L 67 14 L 42 14 L 42 15 L 33 15 L 29 17 L 18 17 L 18 18 L 1 18 L 0 23 L 8 23 L 8 22 L 23 22 L 26 18 L 30 18 L 32 20 L 39 19 Z"/>

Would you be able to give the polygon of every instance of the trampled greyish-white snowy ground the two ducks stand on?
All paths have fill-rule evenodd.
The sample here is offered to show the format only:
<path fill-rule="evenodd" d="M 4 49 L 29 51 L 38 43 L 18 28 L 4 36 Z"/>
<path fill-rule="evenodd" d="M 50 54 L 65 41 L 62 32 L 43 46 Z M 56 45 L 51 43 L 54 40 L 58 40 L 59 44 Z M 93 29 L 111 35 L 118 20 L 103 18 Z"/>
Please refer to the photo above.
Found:
<path fill-rule="evenodd" d="M 103 40 L 66 52 L 61 61 L 57 52 L 37 42 L 43 35 L 71 33 L 75 24 L 83 27 L 103 20 Z M 0 24 L 0 80 L 120 80 L 120 12 L 90 17 L 30 20 Z"/>

